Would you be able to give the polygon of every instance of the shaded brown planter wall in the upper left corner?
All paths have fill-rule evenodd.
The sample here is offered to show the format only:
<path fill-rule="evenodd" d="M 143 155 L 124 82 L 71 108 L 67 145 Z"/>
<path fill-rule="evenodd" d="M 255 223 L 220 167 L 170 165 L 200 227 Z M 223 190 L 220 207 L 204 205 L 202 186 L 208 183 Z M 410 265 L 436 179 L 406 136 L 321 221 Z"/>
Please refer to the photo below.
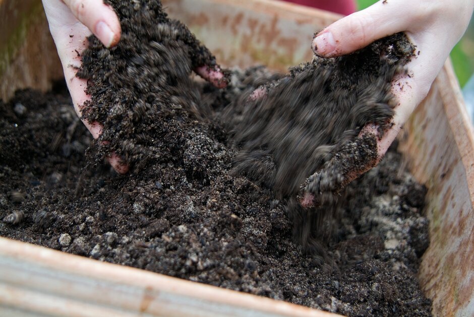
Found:
<path fill-rule="evenodd" d="M 0 30 L 0 99 L 64 77 L 40 0 L 0 2 Z"/>

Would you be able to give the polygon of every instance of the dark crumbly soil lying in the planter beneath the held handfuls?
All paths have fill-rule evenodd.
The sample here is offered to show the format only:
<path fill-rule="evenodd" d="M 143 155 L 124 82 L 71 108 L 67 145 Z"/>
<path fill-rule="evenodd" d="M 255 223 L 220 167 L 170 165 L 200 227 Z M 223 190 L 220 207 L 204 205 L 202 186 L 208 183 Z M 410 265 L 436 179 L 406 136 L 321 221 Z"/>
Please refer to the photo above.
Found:
<path fill-rule="evenodd" d="M 394 151 L 348 185 L 335 235 L 319 240 L 337 264 L 328 267 L 302 253 L 268 189 L 232 176 L 235 150 L 210 129 L 180 137 L 186 166 L 121 176 L 104 163 L 82 174 L 92 138 L 65 88 L 19 91 L 0 114 L 1 236 L 347 316 L 430 315 L 417 282 L 426 189 Z M 196 177 L 204 159 L 212 172 Z"/>

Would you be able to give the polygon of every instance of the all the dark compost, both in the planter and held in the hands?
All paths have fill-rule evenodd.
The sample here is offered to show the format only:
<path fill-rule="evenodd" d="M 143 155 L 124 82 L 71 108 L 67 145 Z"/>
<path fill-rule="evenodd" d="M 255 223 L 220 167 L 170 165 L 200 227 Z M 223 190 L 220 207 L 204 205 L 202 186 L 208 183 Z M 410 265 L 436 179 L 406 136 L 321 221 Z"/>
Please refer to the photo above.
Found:
<path fill-rule="evenodd" d="M 315 59 L 287 76 L 233 69 L 217 89 L 192 76 L 216 69 L 212 54 L 159 2 L 110 3 L 122 40 L 108 50 L 89 38 L 79 72 L 92 96 L 85 118 L 104 126 L 99 140 L 62 83 L 0 101 L 0 235 L 348 316 L 430 315 L 417 282 L 429 241 L 426 188 L 400 154 L 391 149 L 345 189 L 325 187 L 318 207 L 296 198 L 367 122 L 383 133 L 393 115 L 389 76 L 412 53 L 402 35 L 348 57 L 359 64 Z M 264 96 L 249 98 L 262 87 Z M 291 125 L 284 113 L 309 119 Z M 291 125 L 282 130 L 299 131 L 286 143 L 271 138 L 278 125 L 263 124 L 278 116 Z M 128 174 L 107 165 L 112 151 Z M 317 158 L 290 166 L 294 151 Z"/>

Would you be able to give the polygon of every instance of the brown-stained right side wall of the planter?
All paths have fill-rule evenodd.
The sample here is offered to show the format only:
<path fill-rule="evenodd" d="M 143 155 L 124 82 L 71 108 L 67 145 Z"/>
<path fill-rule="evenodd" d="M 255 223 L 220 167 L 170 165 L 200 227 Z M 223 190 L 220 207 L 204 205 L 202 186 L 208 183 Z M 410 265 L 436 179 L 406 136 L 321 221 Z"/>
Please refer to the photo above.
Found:
<path fill-rule="evenodd" d="M 405 125 L 408 166 L 429 188 L 430 247 L 420 280 L 439 316 L 474 315 L 474 153 L 472 127 L 447 62 Z"/>

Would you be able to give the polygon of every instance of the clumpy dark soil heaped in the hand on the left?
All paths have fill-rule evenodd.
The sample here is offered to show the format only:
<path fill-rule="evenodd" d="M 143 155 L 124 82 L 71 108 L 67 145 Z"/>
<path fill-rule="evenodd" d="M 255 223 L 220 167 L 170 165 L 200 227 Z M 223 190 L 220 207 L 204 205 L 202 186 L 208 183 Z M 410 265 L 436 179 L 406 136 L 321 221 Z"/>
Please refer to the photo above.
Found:
<path fill-rule="evenodd" d="M 216 69 L 214 56 L 188 28 L 171 20 L 159 1 L 109 1 L 122 25 L 116 47 L 95 36 L 77 76 L 88 80 L 84 116 L 103 125 L 96 163 L 115 151 L 135 171 L 181 156 L 180 135 L 209 117 L 192 70 Z M 224 79 L 225 80 L 225 79 Z M 105 141 L 105 143 L 104 143 Z M 171 142 L 169 142 L 171 141 Z"/>

